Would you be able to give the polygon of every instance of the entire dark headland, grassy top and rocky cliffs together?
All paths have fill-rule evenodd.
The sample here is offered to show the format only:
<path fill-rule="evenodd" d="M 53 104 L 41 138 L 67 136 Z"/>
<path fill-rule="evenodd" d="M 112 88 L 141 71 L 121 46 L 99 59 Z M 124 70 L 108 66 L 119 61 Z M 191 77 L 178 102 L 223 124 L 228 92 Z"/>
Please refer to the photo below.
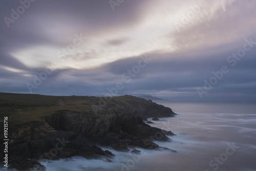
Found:
<path fill-rule="evenodd" d="M 153 141 L 170 141 L 166 135 L 174 134 L 144 120 L 173 117 L 175 113 L 143 98 L 0 93 L 0 111 L 0 117 L 9 120 L 9 156 L 15 168 L 23 168 L 25 159 L 29 165 L 36 163 L 27 160 L 31 158 L 82 156 L 109 161 L 114 154 L 99 145 L 124 152 L 136 147 L 172 151 Z M 61 150 L 56 150 L 56 144 L 62 144 L 57 145 Z M 53 149 L 56 154 L 49 156 Z"/>

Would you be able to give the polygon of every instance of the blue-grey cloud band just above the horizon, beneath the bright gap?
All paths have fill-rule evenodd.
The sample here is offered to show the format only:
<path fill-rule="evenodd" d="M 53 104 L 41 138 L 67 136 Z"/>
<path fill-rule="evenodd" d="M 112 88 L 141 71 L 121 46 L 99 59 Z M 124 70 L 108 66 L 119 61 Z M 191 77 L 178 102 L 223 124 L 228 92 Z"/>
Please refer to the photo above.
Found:
<path fill-rule="evenodd" d="M 227 54 L 231 53 L 232 51 Z M 254 54 L 255 51 L 251 51 L 235 67 L 229 67 L 229 73 L 225 74 L 223 79 L 205 97 L 217 96 L 219 93 L 222 93 L 221 96 L 225 96 L 224 94 L 232 92 L 247 95 L 246 97 L 255 95 L 256 76 L 253 73 L 256 72 L 256 69 L 253 63 L 256 63 L 256 58 Z M 89 95 L 92 94 L 91 90 L 95 90 L 98 95 L 104 95 L 109 93 L 108 88 L 115 87 L 116 82 L 122 82 L 124 89 L 119 91 L 119 94 L 131 94 L 134 91 L 154 93 L 155 91 L 172 90 L 180 92 L 176 98 L 189 97 L 191 94 L 194 98 L 199 99 L 196 88 L 203 86 L 204 79 L 212 77 L 212 71 L 219 71 L 223 65 L 230 65 L 226 61 L 227 55 L 211 56 L 200 60 L 191 58 L 185 61 L 181 57 L 170 59 L 164 57 L 165 55 L 155 55 L 156 58 L 153 58 L 145 68 L 141 69 L 140 73 L 136 74 L 129 83 L 125 82 L 122 74 L 138 65 L 140 60 L 138 56 L 118 60 L 95 69 L 55 70 L 47 80 L 34 89 L 33 93 L 58 94 L 62 92 L 63 94 L 65 92 L 63 95 L 79 95 L 79 92 L 82 92 L 82 95 Z M 148 58 L 151 58 L 150 54 L 148 54 Z M 40 69 L 36 71 L 38 72 Z M 3 71 L 1 72 L 5 75 Z M 15 75 L 14 72 L 11 74 Z M 8 74 L 6 73 L 6 75 Z M 32 82 L 33 77 L 28 79 L 20 76 L 13 77 L 13 79 L 24 81 L 24 84 L 17 84 L 19 87 L 17 90 L 23 90 L 23 93 L 24 91 L 29 92 L 26 88 L 26 81 Z M 9 86 L 5 86 L 3 90 L 10 90 L 10 84 L 6 85 Z M 182 92 L 186 92 L 187 96 Z M 229 95 L 229 97 L 232 96 Z"/>

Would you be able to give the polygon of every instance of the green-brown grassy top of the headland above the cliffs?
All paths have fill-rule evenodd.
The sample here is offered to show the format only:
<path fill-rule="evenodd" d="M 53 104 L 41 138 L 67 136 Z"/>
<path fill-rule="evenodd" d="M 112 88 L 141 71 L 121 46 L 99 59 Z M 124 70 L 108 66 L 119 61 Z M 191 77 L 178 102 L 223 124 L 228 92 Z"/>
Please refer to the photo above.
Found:
<path fill-rule="evenodd" d="M 102 98 L 104 99 L 104 98 Z M 0 93 L 0 119 L 8 116 L 9 126 L 43 121 L 58 110 L 85 111 L 94 114 L 91 105 L 98 105 L 100 98 L 91 96 L 44 96 L 37 94 Z M 133 96 L 114 97 L 108 103 L 132 107 L 141 98 Z"/>

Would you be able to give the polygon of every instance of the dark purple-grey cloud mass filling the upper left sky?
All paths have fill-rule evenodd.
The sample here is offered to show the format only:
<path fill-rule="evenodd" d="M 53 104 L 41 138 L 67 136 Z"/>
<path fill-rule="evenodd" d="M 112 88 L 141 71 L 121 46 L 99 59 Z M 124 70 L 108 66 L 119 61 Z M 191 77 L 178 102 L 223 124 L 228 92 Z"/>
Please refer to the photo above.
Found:
<path fill-rule="evenodd" d="M 1 2 L 1 17 L 7 16 L 11 18 L 11 9 L 16 10 L 21 4 L 18 2 Z M 41 43 L 51 41 L 58 42 L 61 37 L 54 39 L 44 34 L 45 29 L 56 30 L 57 35 L 65 34 L 67 28 L 71 28 L 71 32 L 90 32 L 100 31 L 112 27 L 117 27 L 121 23 L 131 25 L 138 20 L 137 13 L 142 2 L 130 1 L 125 6 L 120 7 L 121 12 L 115 13 L 111 10 L 108 1 L 36 1 L 31 3 L 23 14 L 14 23 L 10 23 L 8 28 L 4 19 L 1 19 L 1 37 L 2 40 L 8 40 L 11 43 L 22 41 L 23 45 L 31 45 L 33 43 Z M 124 22 L 125 21 L 125 22 Z M 13 41 L 12 41 L 13 40 Z M 20 42 L 20 44 L 22 44 Z M 14 44 L 15 46 L 15 44 Z M 20 45 L 22 46 L 22 45 Z"/>

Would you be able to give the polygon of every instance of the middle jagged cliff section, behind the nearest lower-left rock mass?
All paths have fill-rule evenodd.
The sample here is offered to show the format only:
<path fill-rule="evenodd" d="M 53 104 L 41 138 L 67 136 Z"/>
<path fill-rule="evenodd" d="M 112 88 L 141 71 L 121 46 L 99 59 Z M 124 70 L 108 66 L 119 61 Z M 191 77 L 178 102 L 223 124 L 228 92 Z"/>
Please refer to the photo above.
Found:
<path fill-rule="evenodd" d="M 46 122 L 56 130 L 75 132 L 92 143 L 111 146 L 117 151 L 128 152 L 133 146 L 157 149 L 160 147 L 152 141 L 170 141 L 165 133 L 172 135 L 172 132 L 145 124 L 136 109 L 106 105 L 99 113 L 105 115 L 58 111 L 47 117 Z"/>

